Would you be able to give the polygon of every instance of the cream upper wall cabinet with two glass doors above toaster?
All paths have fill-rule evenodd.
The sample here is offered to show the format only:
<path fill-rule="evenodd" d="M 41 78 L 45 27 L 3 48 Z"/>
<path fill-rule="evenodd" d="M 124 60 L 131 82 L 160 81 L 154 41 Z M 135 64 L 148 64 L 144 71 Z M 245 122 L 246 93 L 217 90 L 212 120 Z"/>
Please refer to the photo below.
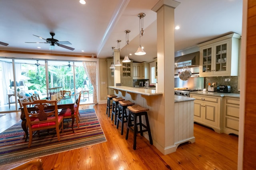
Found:
<path fill-rule="evenodd" d="M 240 35 L 232 33 L 201 43 L 200 76 L 237 76 Z"/>

